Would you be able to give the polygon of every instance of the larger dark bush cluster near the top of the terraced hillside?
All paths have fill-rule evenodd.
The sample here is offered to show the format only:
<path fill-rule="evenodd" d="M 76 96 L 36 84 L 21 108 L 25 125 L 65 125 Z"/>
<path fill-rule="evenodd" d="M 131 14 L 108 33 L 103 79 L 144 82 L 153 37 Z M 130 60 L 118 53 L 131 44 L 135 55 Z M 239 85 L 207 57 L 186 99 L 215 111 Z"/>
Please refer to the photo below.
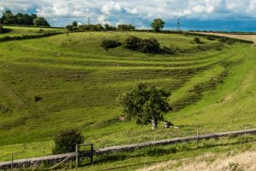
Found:
<path fill-rule="evenodd" d="M 128 37 L 125 40 L 125 48 L 137 50 L 146 54 L 160 54 L 160 43 L 155 38 L 142 39 L 139 37 Z"/>

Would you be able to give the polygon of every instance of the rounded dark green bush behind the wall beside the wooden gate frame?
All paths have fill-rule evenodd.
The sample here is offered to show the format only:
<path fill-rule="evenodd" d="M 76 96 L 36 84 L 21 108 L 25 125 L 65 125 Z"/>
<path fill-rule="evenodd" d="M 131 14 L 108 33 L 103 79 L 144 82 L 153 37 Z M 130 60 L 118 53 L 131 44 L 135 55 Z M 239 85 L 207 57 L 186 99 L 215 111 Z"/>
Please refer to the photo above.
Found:
<path fill-rule="evenodd" d="M 84 137 L 80 131 L 76 128 L 63 129 L 59 133 L 55 134 L 55 147 L 53 149 L 54 154 L 61 154 L 66 152 L 74 152 L 76 145 L 80 145 L 84 142 Z"/>

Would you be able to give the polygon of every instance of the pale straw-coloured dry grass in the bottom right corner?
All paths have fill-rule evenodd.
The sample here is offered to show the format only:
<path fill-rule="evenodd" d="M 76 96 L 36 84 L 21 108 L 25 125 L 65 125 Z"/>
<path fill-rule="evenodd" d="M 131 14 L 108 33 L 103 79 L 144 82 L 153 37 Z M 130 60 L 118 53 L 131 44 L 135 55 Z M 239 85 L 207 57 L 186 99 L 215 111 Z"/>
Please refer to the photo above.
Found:
<path fill-rule="evenodd" d="M 139 171 L 256 171 L 256 151 L 246 151 L 236 155 L 206 154 L 201 157 L 181 161 L 161 162 Z"/>

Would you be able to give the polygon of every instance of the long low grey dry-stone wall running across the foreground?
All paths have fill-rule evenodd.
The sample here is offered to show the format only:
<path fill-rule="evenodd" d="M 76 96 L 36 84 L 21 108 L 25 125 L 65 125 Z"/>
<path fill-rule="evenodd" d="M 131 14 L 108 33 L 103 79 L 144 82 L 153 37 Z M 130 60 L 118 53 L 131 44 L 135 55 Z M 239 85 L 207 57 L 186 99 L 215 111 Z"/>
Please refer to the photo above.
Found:
<path fill-rule="evenodd" d="M 118 151 L 134 151 L 143 147 L 154 146 L 154 145 L 173 145 L 173 144 L 189 142 L 193 140 L 208 140 L 213 138 L 229 137 L 229 136 L 243 135 L 243 134 L 245 135 L 256 134 L 256 128 L 223 132 L 223 133 L 202 134 L 202 135 L 196 135 L 196 136 L 174 138 L 169 140 L 156 140 L 156 141 L 149 141 L 145 143 L 132 144 L 132 145 L 111 146 L 111 147 L 94 150 L 93 154 L 102 155 L 102 154 L 118 152 Z M 90 152 L 88 153 L 86 151 L 81 151 L 81 154 L 79 154 L 79 156 L 83 157 L 84 156 L 83 154 L 88 155 L 90 154 Z M 7 168 L 11 168 L 11 167 L 13 168 L 37 167 L 43 162 L 48 162 L 49 164 L 54 165 L 56 163 L 59 163 L 65 160 L 67 157 L 69 157 L 67 161 L 76 160 L 76 157 L 73 155 L 73 153 L 53 155 L 53 156 L 47 156 L 47 157 L 34 157 L 34 158 L 27 158 L 27 159 L 21 159 L 21 160 L 9 161 L 9 162 L 0 162 L 0 170 L 7 170 Z"/>

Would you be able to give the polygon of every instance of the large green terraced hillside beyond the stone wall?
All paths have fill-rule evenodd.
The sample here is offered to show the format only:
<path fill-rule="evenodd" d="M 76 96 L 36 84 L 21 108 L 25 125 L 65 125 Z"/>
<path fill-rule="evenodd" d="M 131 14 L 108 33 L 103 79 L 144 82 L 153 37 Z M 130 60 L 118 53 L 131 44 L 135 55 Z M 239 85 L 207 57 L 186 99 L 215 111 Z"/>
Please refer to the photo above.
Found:
<path fill-rule="evenodd" d="M 176 54 L 100 47 L 106 38 L 155 37 Z M 0 161 L 51 153 L 61 128 L 82 130 L 96 148 L 256 127 L 255 54 L 250 44 L 143 32 L 80 32 L 0 43 Z M 119 120 L 116 98 L 135 83 L 172 92 L 166 118 L 178 129 L 152 131 Z M 42 98 L 36 102 L 38 96 Z"/>

